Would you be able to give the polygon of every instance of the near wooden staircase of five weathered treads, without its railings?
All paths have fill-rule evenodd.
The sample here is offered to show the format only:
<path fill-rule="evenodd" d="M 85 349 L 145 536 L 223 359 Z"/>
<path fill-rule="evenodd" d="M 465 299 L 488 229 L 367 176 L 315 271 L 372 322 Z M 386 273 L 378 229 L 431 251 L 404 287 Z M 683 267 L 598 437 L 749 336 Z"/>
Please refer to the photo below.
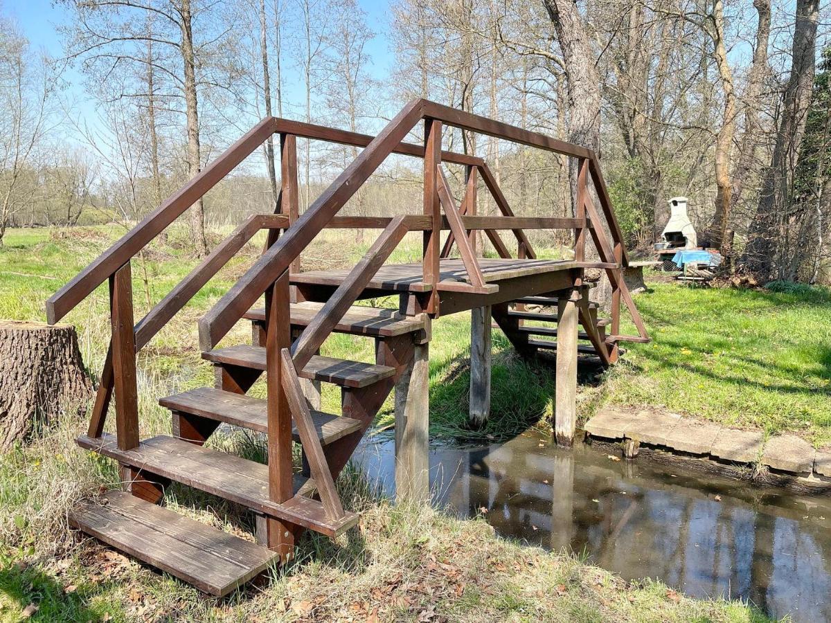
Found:
<path fill-rule="evenodd" d="M 321 307 L 318 303 L 292 304 L 291 325 L 307 326 Z M 252 320 L 253 334 L 259 340 L 263 310 L 255 309 L 245 316 Z M 379 342 L 411 341 L 424 328 L 422 318 L 401 317 L 397 312 L 372 307 L 351 307 L 337 324 L 339 332 Z M 123 466 L 132 495 L 109 492 L 104 506 L 84 503 L 71 514 L 71 523 L 143 562 L 223 596 L 269 564 L 276 564 L 278 552 L 158 508 L 156 503 L 162 500 L 168 483 L 199 489 L 238 503 L 263 518 L 277 518 L 329 537 L 355 526 L 358 516 L 342 512 L 332 517 L 325 504 L 316 499 L 320 493 L 309 473 L 294 473 L 292 497 L 275 503 L 269 496 L 267 465 L 204 446 L 222 423 L 268 434 L 268 400 L 244 393 L 266 370 L 264 346 L 229 346 L 205 351 L 203 357 L 216 367 L 218 387 L 199 387 L 159 400 L 173 416 L 173 436 L 144 439 L 134 449 L 120 449 L 112 434 L 77 439 L 81 448 L 116 459 Z M 353 390 L 375 392 L 372 406 L 380 408 L 396 372 L 391 365 L 312 356 L 298 377 L 339 385 L 345 405 L 349 405 Z M 363 418 L 308 411 L 314 438 L 332 466 L 330 478 L 337 478 L 337 471 L 345 463 L 339 457 L 352 454 L 376 410 L 366 412 Z M 297 422 L 292 437 L 302 444 L 306 454 Z M 266 542 L 268 535 L 259 534 L 258 538 Z M 218 552 L 224 553 L 218 556 Z"/>

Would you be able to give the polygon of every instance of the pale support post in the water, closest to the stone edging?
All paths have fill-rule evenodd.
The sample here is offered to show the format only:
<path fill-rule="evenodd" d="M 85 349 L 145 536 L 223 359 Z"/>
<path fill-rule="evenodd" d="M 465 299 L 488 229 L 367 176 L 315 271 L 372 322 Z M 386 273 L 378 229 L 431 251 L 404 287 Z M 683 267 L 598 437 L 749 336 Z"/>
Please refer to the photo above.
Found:
<path fill-rule="evenodd" d="M 558 299 L 557 378 L 554 395 L 554 435 L 570 446 L 577 424 L 577 338 L 580 290 L 572 288 Z"/>

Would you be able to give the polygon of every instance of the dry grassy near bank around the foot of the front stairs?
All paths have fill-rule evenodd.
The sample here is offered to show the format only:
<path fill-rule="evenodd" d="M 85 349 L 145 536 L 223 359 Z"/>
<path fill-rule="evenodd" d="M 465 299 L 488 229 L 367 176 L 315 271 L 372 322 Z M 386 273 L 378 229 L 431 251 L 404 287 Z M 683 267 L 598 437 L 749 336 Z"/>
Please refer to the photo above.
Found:
<path fill-rule="evenodd" d="M 109 459 L 74 447 L 84 424 L 67 420 L 0 459 L 0 621 L 25 613 L 32 621 L 766 621 L 741 603 L 627 583 L 575 557 L 495 537 L 481 518 L 391 506 L 354 473 L 338 484 L 361 511 L 358 529 L 333 541 L 306 535 L 297 561 L 271 571 L 263 586 L 209 599 L 70 537 L 74 500 L 118 480 Z M 241 434 L 212 444 L 249 458 L 263 452 Z M 165 503 L 250 538 L 251 518 L 224 500 L 170 488 Z"/>

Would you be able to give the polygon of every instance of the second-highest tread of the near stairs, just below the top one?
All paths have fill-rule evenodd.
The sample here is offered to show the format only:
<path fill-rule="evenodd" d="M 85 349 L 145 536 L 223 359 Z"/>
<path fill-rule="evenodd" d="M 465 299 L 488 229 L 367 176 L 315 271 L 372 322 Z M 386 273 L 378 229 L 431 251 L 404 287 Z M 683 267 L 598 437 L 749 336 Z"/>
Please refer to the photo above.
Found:
<path fill-rule="evenodd" d="M 214 363 L 265 370 L 265 348 L 262 346 L 240 344 L 207 351 L 202 353 L 202 356 Z M 346 387 L 366 387 L 395 373 L 396 369 L 388 365 L 366 364 L 316 355 L 309 360 L 299 376 Z"/>

